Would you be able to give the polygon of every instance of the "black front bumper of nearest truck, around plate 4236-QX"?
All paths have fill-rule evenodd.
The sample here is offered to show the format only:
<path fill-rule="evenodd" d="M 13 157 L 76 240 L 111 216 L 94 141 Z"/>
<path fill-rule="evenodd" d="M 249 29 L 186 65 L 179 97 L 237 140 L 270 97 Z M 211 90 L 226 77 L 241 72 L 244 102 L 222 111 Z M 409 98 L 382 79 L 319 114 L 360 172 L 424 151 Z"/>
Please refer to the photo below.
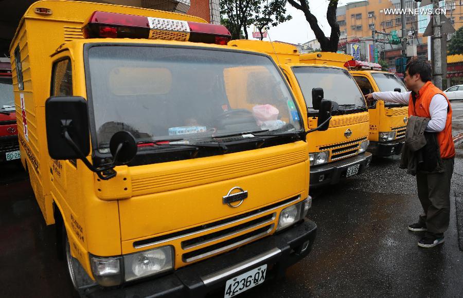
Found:
<path fill-rule="evenodd" d="M 316 229 L 313 221 L 305 219 L 280 233 L 180 268 L 169 275 L 119 288 L 91 288 L 81 294 L 88 297 L 203 297 L 210 293 L 223 296 L 230 278 L 264 264 L 268 271 L 265 281 L 282 277 L 286 268 L 309 254 Z"/>

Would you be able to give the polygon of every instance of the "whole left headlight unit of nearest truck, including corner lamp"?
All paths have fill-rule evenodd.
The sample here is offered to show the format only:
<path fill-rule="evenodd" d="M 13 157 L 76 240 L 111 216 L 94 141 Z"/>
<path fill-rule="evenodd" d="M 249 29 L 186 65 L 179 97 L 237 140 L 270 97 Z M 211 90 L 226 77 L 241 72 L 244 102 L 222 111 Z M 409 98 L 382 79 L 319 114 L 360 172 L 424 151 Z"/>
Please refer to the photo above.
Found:
<path fill-rule="evenodd" d="M 111 287 L 173 269 L 172 251 L 171 246 L 163 246 L 118 257 L 91 255 L 90 263 L 98 284 Z"/>

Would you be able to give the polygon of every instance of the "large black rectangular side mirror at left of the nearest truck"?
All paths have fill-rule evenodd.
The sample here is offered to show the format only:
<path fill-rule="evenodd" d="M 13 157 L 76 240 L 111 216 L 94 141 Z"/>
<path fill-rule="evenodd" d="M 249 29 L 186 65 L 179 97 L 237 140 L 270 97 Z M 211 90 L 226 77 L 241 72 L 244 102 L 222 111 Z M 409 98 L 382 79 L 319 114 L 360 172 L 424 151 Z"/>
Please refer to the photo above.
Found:
<path fill-rule="evenodd" d="M 80 96 L 50 97 L 45 102 L 48 154 L 53 159 L 78 159 L 90 153 L 87 102 Z M 67 140 L 70 137 L 80 152 Z"/>

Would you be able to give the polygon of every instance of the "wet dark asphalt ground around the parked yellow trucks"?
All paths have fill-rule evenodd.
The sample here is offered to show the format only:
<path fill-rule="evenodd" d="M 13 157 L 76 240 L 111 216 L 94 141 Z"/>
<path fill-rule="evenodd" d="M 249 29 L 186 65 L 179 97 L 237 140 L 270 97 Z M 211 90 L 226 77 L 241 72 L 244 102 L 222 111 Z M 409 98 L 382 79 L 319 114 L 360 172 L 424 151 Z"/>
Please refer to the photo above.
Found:
<path fill-rule="evenodd" d="M 463 119 L 463 103 L 452 107 L 454 118 Z M 463 123 L 457 122 L 454 134 L 463 132 Z M 457 146 L 451 194 L 446 243 L 420 248 L 421 234 L 406 229 L 421 210 L 415 178 L 398 169 L 397 157 L 375 159 L 366 173 L 313 194 L 309 217 L 318 232 L 309 256 L 289 268 L 284 280 L 240 296 L 462 296 L 455 205 L 463 206 L 463 143 Z M 29 181 L 16 164 L 1 165 L 0 227 L 2 296 L 74 296 L 65 264 L 56 257 L 54 228 L 45 226 Z"/>

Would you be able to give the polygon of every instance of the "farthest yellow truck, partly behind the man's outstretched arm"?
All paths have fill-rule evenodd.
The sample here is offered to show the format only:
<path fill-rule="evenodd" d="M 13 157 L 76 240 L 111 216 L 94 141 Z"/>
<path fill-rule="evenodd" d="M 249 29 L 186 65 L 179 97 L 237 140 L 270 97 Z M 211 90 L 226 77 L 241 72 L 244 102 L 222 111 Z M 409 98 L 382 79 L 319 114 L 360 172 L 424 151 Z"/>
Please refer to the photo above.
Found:
<path fill-rule="evenodd" d="M 348 60 L 344 65 L 354 77 L 362 93 L 398 91 L 407 88 L 394 73 L 381 71 L 381 65 L 364 61 Z M 370 145 L 368 152 L 374 156 L 399 155 L 405 142 L 408 107 L 382 100 L 368 107 L 370 113 Z"/>

